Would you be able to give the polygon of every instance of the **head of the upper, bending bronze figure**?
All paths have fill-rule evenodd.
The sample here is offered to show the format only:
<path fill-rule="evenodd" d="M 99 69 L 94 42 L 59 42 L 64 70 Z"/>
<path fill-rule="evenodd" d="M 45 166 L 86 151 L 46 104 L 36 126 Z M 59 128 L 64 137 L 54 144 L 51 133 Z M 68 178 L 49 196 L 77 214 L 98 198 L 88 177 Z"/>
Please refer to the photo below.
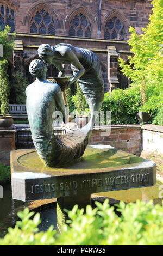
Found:
<path fill-rule="evenodd" d="M 38 55 L 47 65 L 52 64 L 53 48 L 48 44 L 40 45 Z"/>

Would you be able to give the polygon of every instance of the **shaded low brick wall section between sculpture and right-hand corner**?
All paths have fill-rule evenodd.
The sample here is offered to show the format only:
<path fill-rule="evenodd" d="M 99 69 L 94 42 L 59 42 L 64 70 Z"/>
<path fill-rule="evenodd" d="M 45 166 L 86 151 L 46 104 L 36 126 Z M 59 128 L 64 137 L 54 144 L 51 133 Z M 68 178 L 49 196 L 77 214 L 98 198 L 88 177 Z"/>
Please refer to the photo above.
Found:
<path fill-rule="evenodd" d="M 131 154 L 140 155 L 142 150 L 141 125 L 111 125 L 93 130 L 91 145 L 107 144 Z"/>

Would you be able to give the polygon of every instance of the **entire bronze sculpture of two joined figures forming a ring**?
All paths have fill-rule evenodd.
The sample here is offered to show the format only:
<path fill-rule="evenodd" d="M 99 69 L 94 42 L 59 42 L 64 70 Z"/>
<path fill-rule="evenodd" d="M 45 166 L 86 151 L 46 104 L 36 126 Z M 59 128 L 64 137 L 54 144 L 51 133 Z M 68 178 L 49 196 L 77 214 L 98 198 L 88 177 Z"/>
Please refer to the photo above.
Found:
<path fill-rule="evenodd" d="M 82 156 L 90 141 L 92 127 L 104 97 L 102 70 L 93 52 L 68 44 L 52 47 L 41 45 L 38 53 L 44 63 L 41 60 L 33 60 L 30 63 L 29 71 L 36 80 L 26 89 L 30 129 L 37 153 L 43 163 L 47 166 L 61 166 Z M 90 107 L 91 118 L 82 129 L 55 136 L 52 127 L 55 106 L 64 117 L 66 111 L 58 84 L 46 80 L 46 65 L 54 64 L 60 70 L 59 77 L 63 77 L 65 70 L 62 64 L 68 63 L 71 63 L 74 75 L 68 82 L 68 86 L 76 80 L 79 81 Z"/>

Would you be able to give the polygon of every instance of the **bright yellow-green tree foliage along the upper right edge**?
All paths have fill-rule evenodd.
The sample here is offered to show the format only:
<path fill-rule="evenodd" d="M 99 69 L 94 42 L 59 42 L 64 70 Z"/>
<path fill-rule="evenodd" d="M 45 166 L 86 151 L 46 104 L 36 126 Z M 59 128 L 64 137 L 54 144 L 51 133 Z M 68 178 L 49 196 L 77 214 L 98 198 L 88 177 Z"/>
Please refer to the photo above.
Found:
<path fill-rule="evenodd" d="M 133 86 L 140 87 L 140 93 L 146 84 L 146 102 L 141 110 L 156 114 L 163 105 L 163 1 L 153 0 L 152 4 L 153 12 L 148 26 L 142 28 L 143 34 L 137 35 L 135 28 L 130 27 L 128 42 L 133 55 L 129 56 L 129 65 L 122 58 L 119 60 L 123 74 L 131 78 Z M 154 107 L 152 100 L 158 105 Z"/>

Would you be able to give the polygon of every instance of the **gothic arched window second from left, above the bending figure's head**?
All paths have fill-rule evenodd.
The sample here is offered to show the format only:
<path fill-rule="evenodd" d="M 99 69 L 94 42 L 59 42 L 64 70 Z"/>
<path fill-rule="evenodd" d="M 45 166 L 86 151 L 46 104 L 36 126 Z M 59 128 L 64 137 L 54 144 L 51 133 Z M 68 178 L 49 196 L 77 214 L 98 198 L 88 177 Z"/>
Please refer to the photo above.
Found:
<path fill-rule="evenodd" d="M 36 11 L 30 20 L 30 33 L 55 35 L 54 21 L 48 11 Z"/>

